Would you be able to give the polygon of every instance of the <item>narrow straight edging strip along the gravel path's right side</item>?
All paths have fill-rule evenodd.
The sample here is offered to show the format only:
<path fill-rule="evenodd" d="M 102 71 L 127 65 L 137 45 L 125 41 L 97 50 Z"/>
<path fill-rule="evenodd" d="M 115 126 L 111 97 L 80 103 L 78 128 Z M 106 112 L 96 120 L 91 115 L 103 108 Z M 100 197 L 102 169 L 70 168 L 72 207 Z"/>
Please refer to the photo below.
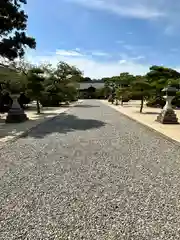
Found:
<path fill-rule="evenodd" d="M 154 132 L 154 133 L 160 135 L 161 137 L 165 138 L 167 141 L 169 141 L 169 142 L 175 144 L 176 146 L 180 147 L 180 142 L 176 141 L 175 139 L 173 139 L 173 138 L 171 138 L 171 137 L 163 134 L 162 132 L 159 132 L 158 130 L 154 129 L 153 127 L 150 127 L 150 126 L 146 125 L 145 123 L 142 123 L 142 122 L 138 121 L 137 119 L 132 118 L 132 117 L 129 116 L 128 114 L 125 114 L 125 113 L 121 112 L 120 109 L 115 108 L 113 105 L 108 104 L 108 103 L 105 102 L 105 101 L 101 101 L 101 103 L 103 103 L 103 104 L 106 105 L 106 106 L 109 106 L 109 107 L 113 108 L 115 111 L 119 112 L 119 113 L 122 114 L 123 116 L 129 118 L 130 120 L 132 120 L 132 121 L 134 121 L 134 122 L 137 122 L 137 123 L 140 124 L 140 125 L 143 125 L 144 127 L 148 128 L 151 132 Z"/>

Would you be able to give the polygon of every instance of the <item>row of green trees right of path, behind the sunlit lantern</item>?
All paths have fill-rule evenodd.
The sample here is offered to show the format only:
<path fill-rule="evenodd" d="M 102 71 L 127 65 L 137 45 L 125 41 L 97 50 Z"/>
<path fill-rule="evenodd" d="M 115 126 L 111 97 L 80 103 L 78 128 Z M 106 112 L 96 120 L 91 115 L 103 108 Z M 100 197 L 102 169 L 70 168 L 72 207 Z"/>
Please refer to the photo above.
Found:
<path fill-rule="evenodd" d="M 168 85 L 177 89 L 173 105 L 180 107 L 180 73 L 171 68 L 162 66 L 151 66 L 149 72 L 143 76 L 132 75 L 128 72 L 121 73 L 119 76 L 102 78 L 104 87 L 96 89 L 93 96 L 96 98 L 108 98 L 109 101 L 140 100 L 140 112 L 142 112 L 144 101 L 150 107 L 163 107 L 165 100 L 162 89 Z M 92 89 L 91 89 L 92 92 Z"/>

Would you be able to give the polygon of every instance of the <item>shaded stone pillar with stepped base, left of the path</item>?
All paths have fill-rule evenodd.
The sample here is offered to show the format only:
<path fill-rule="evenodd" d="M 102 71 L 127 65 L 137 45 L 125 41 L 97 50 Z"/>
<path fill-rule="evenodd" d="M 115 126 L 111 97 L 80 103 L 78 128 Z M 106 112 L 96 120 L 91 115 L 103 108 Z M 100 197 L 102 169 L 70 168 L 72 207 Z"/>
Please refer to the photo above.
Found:
<path fill-rule="evenodd" d="M 6 117 L 6 123 L 20 123 L 28 120 L 24 110 L 20 107 L 17 96 L 13 97 L 13 104 Z"/>

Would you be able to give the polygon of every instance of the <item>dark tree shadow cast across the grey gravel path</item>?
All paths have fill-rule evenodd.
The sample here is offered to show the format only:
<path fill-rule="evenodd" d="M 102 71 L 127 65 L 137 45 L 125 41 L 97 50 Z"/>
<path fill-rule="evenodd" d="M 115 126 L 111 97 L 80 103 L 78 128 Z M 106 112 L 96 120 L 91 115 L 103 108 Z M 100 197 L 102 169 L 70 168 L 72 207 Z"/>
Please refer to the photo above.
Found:
<path fill-rule="evenodd" d="M 59 116 L 40 124 L 32 129 L 26 137 L 44 138 L 52 133 L 68 133 L 76 130 L 86 131 L 94 128 L 101 128 L 105 122 L 95 119 L 80 119 L 75 115 L 61 113 Z"/>

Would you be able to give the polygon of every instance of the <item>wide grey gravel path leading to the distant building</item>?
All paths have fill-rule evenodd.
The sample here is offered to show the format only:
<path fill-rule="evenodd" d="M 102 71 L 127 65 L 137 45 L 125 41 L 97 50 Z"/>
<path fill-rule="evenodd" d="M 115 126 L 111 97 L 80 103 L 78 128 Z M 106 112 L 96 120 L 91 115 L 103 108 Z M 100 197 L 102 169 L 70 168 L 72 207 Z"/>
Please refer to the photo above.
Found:
<path fill-rule="evenodd" d="M 180 148 L 84 101 L 0 151 L 0 239 L 180 239 Z"/>

